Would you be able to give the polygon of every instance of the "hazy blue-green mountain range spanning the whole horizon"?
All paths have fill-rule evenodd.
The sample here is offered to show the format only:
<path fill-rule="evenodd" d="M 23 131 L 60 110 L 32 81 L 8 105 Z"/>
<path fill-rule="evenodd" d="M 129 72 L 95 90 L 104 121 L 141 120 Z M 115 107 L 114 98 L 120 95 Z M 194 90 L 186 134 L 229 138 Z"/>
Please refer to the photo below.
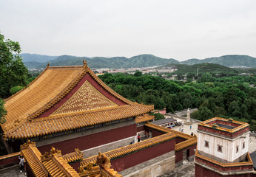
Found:
<path fill-rule="evenodd" d="M 167 64 L 186 64 L 194 65 L 198 63 L 215 63 L 223 66 L 234 67 L 256 67 L 256 58 L 252 58 L 248 55 L 224 55 L 216 58 L 206 58 L 203 60 L 189 59 L 182 62 L 169 58 L 158 58 L 154 55 L 138 55 L 132 58 L 115 57 L 76 57 L 70 55 L 61 56 L 48 56 L 48 55 L 36 55 L 36 54 L 21 54 L 24 65 L 28 69 L 42 69 L 50 63 L 50 66 L 75 66 L 81 65 L 83 60 L 87 60 L 87 64 L 92 69 L 98 68 L 136 68 L 136 67 L 149 67 L 149 66 L 164 66 Z"/>

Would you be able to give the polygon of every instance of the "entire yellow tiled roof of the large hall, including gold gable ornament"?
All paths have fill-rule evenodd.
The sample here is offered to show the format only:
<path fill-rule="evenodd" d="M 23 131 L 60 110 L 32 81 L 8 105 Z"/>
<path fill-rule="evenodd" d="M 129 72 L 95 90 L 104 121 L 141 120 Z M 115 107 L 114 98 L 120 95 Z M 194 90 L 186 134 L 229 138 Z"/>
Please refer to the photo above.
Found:
<path fill-rule="evenodd" d="M 61 101 L 85 75 L 101 88 L 95 89 L 85 81 L 66 103 L 47 117 L 38 118 Z M 117 105 L 105 97 L 107 91 L 124 105 Z M 84 97 L 84 99 L 81 99 Z M 27 88 L 5 100 L 6 122 L 1 124 L 4 139 L 36 137 L 49 133 L 82 128 L 112 120 L 136 117 L 153 110 L 153 105 L 132 103 L 103 83 L 84 63 L 84 66 L 47 66 Z M 130 114 L 129 114 L 130 113 Z"/>

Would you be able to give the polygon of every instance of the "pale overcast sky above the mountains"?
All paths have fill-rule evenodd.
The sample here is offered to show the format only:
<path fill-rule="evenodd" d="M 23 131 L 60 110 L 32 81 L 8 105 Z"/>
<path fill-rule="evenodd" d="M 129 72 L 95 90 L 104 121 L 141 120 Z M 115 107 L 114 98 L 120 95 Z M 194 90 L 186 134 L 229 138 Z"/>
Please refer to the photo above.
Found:
<path fill-rule="evenodd" d="M 256 57 L 256 1 L 0 0 L 0 31 L 40 55 Z"/>

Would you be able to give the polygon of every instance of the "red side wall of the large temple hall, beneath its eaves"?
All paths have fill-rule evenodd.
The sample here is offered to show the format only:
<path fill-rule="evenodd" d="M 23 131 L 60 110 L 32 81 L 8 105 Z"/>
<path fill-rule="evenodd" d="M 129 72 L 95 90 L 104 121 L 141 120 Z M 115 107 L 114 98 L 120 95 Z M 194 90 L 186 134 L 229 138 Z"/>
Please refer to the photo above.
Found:
<path fill-rule="evenodd" d="M 110 131 L 103 131 L 100 133 L 81 136 L 75 139 L 69 139 L 62 142 L 55 142 L 50 145 L 40 146 L 38 147 L 38 150 L 41 153 L 50 152 L 50 148 L 53 146 L 61 150 L 62 154 L 72 153 L 74 152 L 75 148 L 79 148 L 79 150 L 86 150 L 99 145 L 115 142 L 120 139 L 125 139 L 130 136 L 135 136 L 136 133 L 136 124 L 132 124 L 121 128 L 115 128 Z"/>

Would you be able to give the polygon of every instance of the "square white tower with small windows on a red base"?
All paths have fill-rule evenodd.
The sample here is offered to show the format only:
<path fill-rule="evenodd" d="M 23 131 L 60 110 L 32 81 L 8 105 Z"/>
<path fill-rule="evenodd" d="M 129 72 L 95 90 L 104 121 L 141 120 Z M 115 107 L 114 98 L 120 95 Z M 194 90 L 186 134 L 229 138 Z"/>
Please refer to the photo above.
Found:
<path fill-rule="evenodd" d="M 215 117 L 198 124 L 195 176 L 256 176 L 248 153 L 249 124 Z"/>

